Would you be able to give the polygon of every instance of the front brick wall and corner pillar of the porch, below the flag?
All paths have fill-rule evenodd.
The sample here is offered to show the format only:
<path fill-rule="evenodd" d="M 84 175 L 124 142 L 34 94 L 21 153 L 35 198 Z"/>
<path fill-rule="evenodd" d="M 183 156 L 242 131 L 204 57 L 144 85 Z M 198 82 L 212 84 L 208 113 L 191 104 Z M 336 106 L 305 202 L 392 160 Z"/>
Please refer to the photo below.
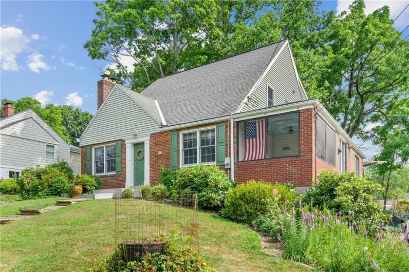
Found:
<path fill-rule="evenodd" d="M 234 179 L 238 183 L 250 179 L 310 186 L 312 181 L 313 109 L 300 110 L 300 156 L 237 162 Z"/>

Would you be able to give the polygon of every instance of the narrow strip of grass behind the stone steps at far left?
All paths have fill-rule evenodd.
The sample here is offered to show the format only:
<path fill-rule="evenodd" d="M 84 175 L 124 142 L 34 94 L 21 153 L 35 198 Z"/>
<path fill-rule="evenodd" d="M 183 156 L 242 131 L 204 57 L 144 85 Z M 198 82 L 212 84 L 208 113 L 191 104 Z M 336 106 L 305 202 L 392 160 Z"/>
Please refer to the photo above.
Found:
<path fill-rule="evenodd" d="M 19 209 L 41 209 L 47 206 L 55 205 L 55 202 L 62 200 L 64 198 L 53 197 L 45 199 L 33 199 L 33 200 L 24 200 L 18 201 L 18 198 L 15 196 L 2 196 L 8 203 L 0 205 L 0 217 L 18 215 Z M 4 202 L 5 202 L 4 201 Z"/>

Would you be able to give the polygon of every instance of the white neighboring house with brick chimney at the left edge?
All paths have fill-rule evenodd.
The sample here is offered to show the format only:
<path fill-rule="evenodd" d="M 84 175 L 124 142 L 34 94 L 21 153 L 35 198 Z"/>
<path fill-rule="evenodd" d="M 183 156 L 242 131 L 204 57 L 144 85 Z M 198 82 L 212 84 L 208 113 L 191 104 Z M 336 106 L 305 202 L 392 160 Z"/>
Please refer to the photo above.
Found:
<path fill-rule="evenodd" d="M 70 145 L 33 110 L 14 114 L 14 106 L 6 103 L 2 113 L 0 179 L 19 175 L 21 170 L 37 164 L 46 166 L 62 160 L 75 165 L 71 168 L 78 168 L 81 156 L 76 155 L 71 160 Z"/>

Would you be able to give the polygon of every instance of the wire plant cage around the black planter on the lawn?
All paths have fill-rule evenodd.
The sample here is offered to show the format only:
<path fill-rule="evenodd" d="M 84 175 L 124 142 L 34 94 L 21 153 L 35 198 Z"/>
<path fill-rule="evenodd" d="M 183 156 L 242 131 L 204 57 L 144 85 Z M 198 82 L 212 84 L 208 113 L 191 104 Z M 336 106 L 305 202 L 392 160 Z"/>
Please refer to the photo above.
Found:
<path fill-rule="evenodd" d="M 183 193 L 174 200 L 121 198 L 115 191 L 115 244 L 125 262 L 135 261 L 147 253 L 163 253 L 165 240 L 177 232 L 188 241 L 190 249 L 199 251 L 197 193 Z M 184 245 L 185 246 L 185 245 Z"/>

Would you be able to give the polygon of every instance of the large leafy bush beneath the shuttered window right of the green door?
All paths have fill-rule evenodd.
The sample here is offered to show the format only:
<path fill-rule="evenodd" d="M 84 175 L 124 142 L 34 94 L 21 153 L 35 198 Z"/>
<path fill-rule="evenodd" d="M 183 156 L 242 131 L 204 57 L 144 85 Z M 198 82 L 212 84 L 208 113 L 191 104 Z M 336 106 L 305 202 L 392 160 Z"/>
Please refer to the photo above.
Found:
<path fill-rule="evenodd" d="M 183 192 L 197 192 L 199 207 L 219 210 L 224 204 L 226 193 L 234 184 L 226 172 L 216 165 L 196 165 L 179 168 L 172 189 L 176 199 Z"/>

